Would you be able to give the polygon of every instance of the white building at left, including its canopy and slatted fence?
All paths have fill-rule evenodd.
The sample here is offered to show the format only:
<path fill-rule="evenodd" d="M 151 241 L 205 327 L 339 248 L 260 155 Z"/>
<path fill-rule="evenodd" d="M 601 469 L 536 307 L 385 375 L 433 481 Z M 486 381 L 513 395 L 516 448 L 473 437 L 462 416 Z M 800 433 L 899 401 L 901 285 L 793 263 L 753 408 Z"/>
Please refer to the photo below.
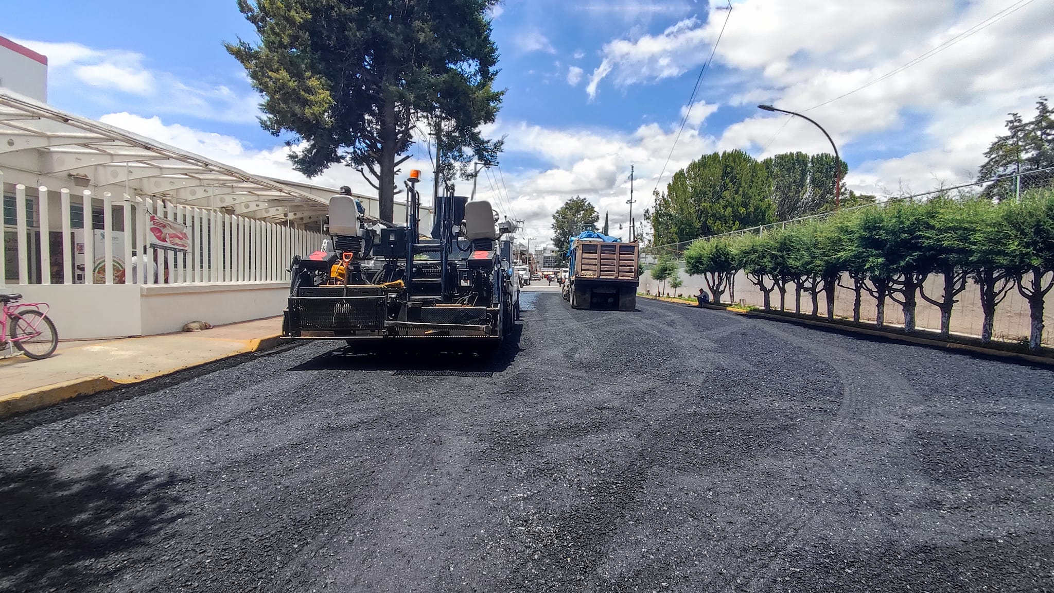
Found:
<path fill-rule="evenodd" d="M 52 108 L 46 58 L 0 40 L 0 292 L 47 303 L 62 339 L 281 313 L 289 263 L 320 246 L 336 189 L 252 175 Z M 376 214 L 375 197 L 358 197 Z M 431 213 L 423 218 L 431 228 Z"/>

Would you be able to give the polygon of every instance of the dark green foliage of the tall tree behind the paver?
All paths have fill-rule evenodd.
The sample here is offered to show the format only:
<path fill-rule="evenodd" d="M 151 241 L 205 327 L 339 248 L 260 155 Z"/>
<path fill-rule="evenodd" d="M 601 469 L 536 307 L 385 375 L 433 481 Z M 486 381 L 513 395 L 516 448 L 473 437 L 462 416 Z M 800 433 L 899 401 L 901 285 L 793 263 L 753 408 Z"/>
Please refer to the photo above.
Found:
<path fill-rule="evenodd" d="M 497 47 L 486 16 L 495 3 L 238 0 L 259 42 L 226 47 L 265 96 L 264 128 L 302 142 L 290 154 L 294 168 L 308 176 L 338 162 L 365 168 L 390 222 L 395 168 L 406 158 L 396 157 L 422 121 L 442 125 L 447 178 L 454 162 L 501 151 L 501 140 L 480 133 L 504 94 L 493 89 Z"/>

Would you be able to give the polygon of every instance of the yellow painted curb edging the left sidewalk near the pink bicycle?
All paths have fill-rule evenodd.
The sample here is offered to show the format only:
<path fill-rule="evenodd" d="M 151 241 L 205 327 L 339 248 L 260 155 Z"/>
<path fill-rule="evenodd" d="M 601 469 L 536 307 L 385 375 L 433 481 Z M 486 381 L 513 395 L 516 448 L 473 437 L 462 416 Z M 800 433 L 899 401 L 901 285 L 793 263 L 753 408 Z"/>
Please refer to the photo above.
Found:
<path fill-rule="evenodd" d="M 0 397 L 0 418 L 22 412 L 40 409 L 41 407 L 47 407 L 61 401 L 72 400 L 81 396 L 91 396 L 100 391 L 109 391 L 115 387 L 124 387 L 136 383 L 142 383 L 143 381 L 150 381 L 151 379 L 157 379 L 158 377 L 164 377 L 167 375 L 179 372 L 180 370 L 202 366 L 229 359 L 231 357 L 269 350 L 281 343 L 281 336 L 275 334 L 268 336 L 266 338 L 254 338 L 252 340 L 242 340 L 241 342 L 246 343 L 245 349 L 230 352 L 221 357 L 216 357 L 214 359 L 199 361 L 194 364 L 188 364 L 176 368 L 169 368 L 149 375 L 140 375 L 129 379 L 111 379 L 110 377 L 105 377 L 103 375 L 95 375 L 92 377 L 74 379 L 72 381 L 64 381 L 62 383 L 54 383 L 52 385 L 45 385 L 43 387 L 37 387 L 25 391 L 18 391 L 16 394 L 8 394 Z"/>

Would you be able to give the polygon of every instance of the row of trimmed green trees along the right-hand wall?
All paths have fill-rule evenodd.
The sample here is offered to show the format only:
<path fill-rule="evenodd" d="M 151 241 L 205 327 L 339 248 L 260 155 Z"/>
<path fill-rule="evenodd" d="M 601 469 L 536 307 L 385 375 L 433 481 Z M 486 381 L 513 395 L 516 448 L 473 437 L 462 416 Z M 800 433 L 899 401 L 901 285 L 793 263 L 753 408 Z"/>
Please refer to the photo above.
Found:
<path fill-rule="evenodd" d="M 897 202 L 884 208 L 842 211 L 819 222 L 777 229 L 731 242 L 734 264 L 720 256 L 727 242 L 697 242 L 685 253 L 689 273 L 727 273 L 742 269 L 766 292 L 788 283 L 813 295 L 827 293 L 828 315 L 834 286 L 841 274 L 853 288 L 879 302 L 881 325 L 886 299 L 904 309 L 912 330 L 917 296 L 941 309 L 946 334 L 956 296 L 972 279 L 980 288 L 984 312 L 982 340 L 992 337 L 996 306 L 1016 287 L 1029 302 L 1030 346 L 1039 347 L 1045 298 L 1054 291 L 1054 189 L 1032 190 L 1021 199 L 999 204 L 980 197 L 938 196 L 926 203 Z M 936 273 L 941 294 L 930 295 L 922 283 Z M 858 306 L 858 305 L 857 305 Z"/>

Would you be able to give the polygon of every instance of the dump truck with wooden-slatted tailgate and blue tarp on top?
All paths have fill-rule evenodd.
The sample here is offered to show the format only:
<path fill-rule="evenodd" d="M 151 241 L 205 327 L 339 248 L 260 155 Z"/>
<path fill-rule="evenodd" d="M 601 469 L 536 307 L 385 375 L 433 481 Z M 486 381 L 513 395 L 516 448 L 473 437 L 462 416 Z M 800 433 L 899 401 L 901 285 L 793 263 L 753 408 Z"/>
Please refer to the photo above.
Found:
<path fill-rule="evenodd" d="M 574 309 L 637 309 L 637 243 L 586 231 L 571 240 L 564 299 Z"/>

